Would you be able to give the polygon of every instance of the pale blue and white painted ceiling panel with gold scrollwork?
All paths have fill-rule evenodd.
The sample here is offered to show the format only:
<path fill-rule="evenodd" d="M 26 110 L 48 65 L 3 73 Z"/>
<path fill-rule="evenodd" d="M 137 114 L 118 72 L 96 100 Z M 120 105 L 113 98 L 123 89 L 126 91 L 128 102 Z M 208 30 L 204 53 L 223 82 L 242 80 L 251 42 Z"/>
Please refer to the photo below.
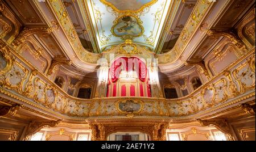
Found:
<path fill-rule="evenodd" d="M 89 16 L 100 52 L 130 39 L 151 50 L 156 48 L 171 0 L 84 0 L 82 16 Z M 84 22 L 88 22 L 85 20 Z"/>

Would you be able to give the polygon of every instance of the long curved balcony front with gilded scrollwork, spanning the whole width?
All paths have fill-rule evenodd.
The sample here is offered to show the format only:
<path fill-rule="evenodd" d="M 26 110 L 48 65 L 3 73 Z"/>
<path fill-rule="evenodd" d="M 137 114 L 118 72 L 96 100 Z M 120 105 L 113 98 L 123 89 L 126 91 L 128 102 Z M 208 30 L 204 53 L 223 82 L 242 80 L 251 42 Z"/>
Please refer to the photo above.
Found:
<path fill-rule="evenodd" d="M 3 56 L 5 50 L 1 49 Z M 7 56 L 15 56 L 14 50 L 10 49 Z M 116 101 L 127 101 L 129 98 L 106 98 L 106 99 L 77 99 L 72 98 L 61 88 L 56 87 L 41 71 L 26 66 L 26 60 L 15 62 L 10 65 L 10 70 L 1 73 L 0 81 L 1 94 L 15 96 L 6 90 L 16 92 L 32 100 L 33 105 L 42 105 L 48 111 L 55 111 L 68 117 L 94 117 L 94 116 L 119 116 L 126 119 L 135 119 L 137 116 L 170 116 L 187 117 L 203 112 L 209 108 L 226 104 L 234 99 L 234 96 L 241 96 L 243 93 L 255 94 L 255 54 L 251 50 L 232 65 L 215 75 L 204 85 L 192 92 L 192 94 L 179 99 L 164 98 L 137 98 L 130 99 L 138 107 L 125 105 L 117 107 Z M 8 85 L 9 83 L 9 85 Z M 248 97 L 250 96 L 248 95 Z M 16 98 L 21 100 L 21 98 Z M 21 100 L 24 102 L 24 100 Z M 136 103 L 137 102 L 137 103 Z M 28 103 L 28 102 L 27 102 Z M 31 103 L 31 104 L 32 104 Z M 227 103 L 228 104 L 228 103 Z M 123 109 L 124 108 L 124 109 Z"/>

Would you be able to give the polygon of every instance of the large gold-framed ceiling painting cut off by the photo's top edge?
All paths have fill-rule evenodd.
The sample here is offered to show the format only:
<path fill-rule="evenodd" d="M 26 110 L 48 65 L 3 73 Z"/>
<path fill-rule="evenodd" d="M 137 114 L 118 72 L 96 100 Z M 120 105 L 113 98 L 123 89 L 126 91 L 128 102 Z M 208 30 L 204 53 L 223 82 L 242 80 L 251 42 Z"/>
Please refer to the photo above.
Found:
<path fill-rule="evenodd" d="M 141 12 L 144 8 L 153 5 L 158 0 L 100 0 L 104 5 L 117 12 Z"/>

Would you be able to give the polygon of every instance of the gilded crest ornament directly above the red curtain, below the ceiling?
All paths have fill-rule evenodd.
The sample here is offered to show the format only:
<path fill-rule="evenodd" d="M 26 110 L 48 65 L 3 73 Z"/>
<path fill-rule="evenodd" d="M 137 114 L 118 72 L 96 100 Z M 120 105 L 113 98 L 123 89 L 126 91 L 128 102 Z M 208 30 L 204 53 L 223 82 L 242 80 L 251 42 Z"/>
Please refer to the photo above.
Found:
<path fill-rule="evenodd" d="M 134 54 L 141 54 L 141 51 L 137 49 L 136 44 L 131 43 L 131 40 L 125 40 L 125 43 L 121 44 L 118 53 L 130 57 Z"/>

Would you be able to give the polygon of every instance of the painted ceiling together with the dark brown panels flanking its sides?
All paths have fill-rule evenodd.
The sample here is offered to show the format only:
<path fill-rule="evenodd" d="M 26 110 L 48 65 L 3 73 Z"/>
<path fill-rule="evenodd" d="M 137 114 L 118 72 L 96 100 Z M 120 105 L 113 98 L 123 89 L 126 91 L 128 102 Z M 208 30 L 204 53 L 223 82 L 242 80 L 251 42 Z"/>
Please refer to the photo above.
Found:
<path fill-rule="evenodd" d="M 65 0 L 86 50 L 101 53 L 126 39 L 155 53 L 172 49 L 196 1 Z M 163 51 L 162 51 L 163 50 Z"/>

